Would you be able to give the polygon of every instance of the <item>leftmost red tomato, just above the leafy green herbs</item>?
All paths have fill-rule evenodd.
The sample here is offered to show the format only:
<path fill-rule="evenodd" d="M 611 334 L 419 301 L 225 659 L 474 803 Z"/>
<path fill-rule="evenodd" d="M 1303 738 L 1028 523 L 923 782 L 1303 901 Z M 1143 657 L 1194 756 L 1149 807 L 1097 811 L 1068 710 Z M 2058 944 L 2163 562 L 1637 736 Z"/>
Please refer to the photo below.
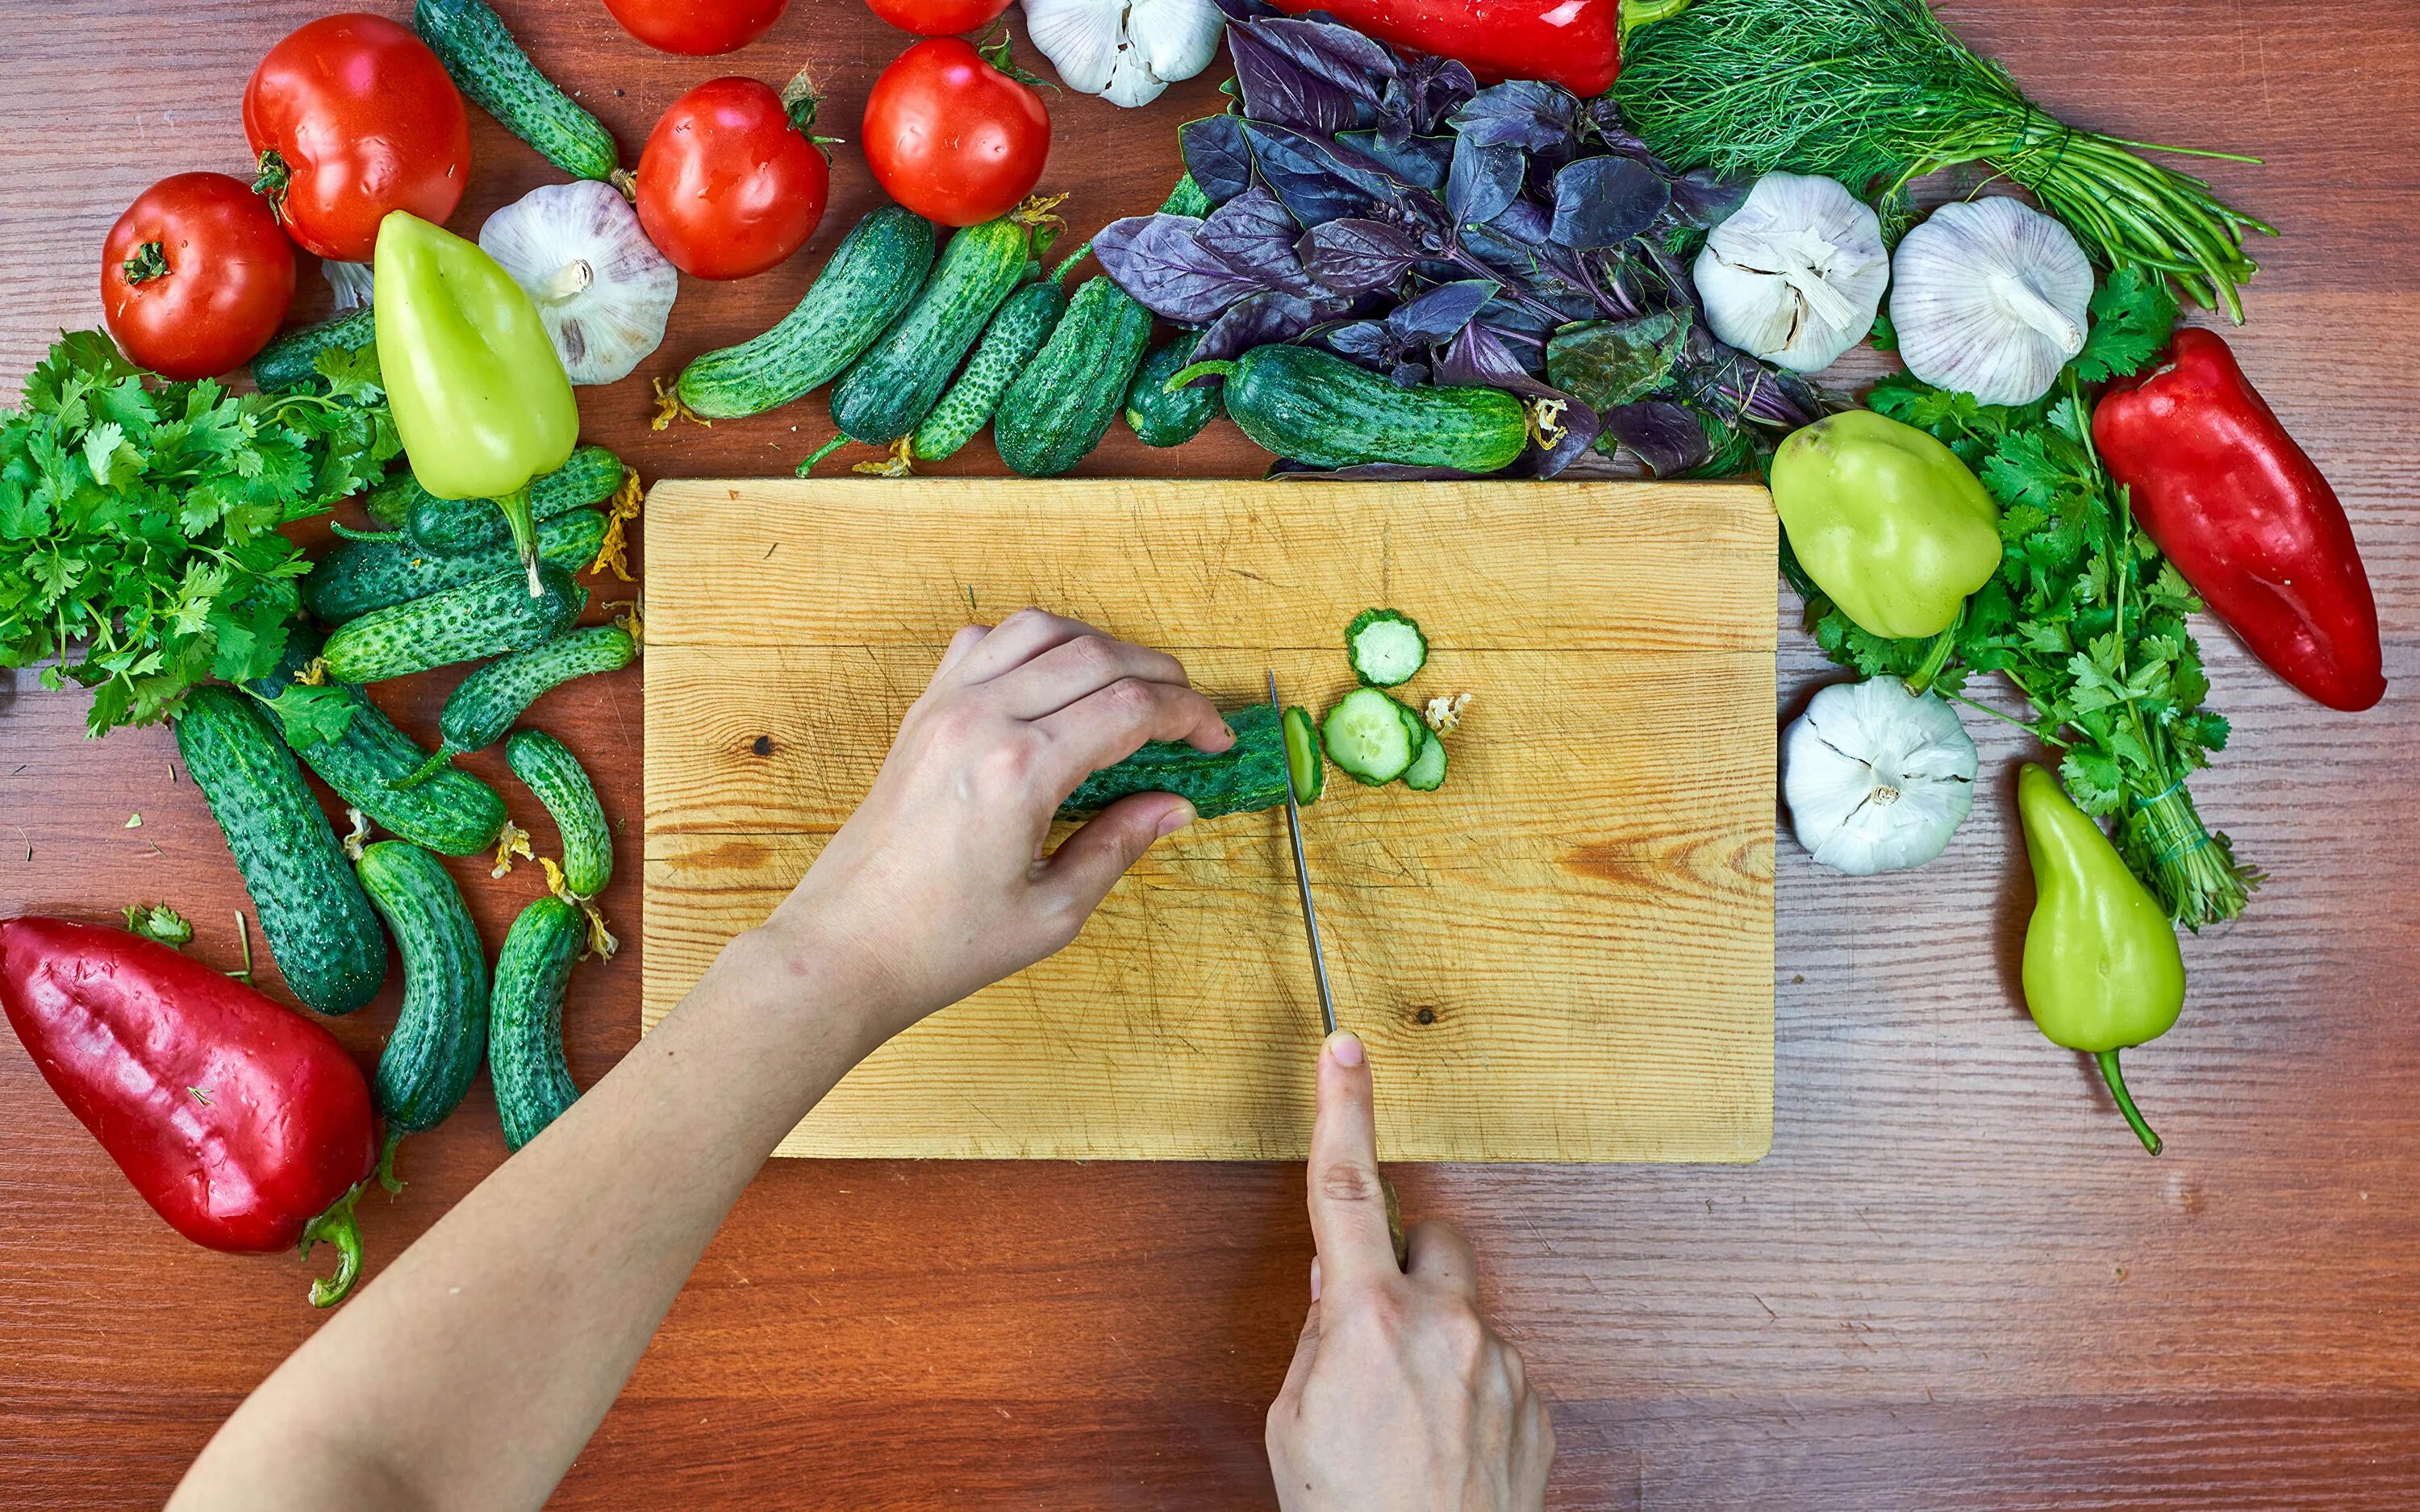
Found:
<path fill-rule="evenodd" d="M 126 206 L 102 244 L 102 314 L 128 358 L 215 377 L 269 346 L 295 293 L 295 249 L 227 174 L 177 174 Z"/>

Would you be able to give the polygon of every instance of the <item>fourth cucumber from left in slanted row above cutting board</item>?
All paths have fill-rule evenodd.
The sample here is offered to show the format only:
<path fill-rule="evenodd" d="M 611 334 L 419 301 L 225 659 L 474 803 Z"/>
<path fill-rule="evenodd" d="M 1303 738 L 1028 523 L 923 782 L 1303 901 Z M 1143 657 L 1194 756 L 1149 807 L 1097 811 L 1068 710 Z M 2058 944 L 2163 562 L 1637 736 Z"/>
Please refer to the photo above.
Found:
<path fill-rule="evenodd" d="M 1106 276 L 1087 278 L 1050 341 L 999 397 L 999 460 L 1021 477 L 1058 477 L 1091 455 L 1150 344 L 1152 312 Z"/>

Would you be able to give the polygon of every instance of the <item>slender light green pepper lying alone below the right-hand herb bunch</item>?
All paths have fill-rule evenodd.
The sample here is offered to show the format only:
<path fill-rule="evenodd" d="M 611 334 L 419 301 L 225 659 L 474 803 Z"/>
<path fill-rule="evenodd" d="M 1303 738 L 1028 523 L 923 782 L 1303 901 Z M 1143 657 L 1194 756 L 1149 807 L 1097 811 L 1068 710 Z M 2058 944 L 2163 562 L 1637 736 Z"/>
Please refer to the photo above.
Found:
<path fill-rule="evenodd" d="M 2016 813 L 2033 861 L 2026 1009 L 2052 1045 L 2101 1062 L 2118 1110 L 2142 1147 L 2159 1154 L 2159 1135 L 2134 1110 L 2118 1052 L 2168 1033 L 2185 1006 L 2176 924 L 2134 881 L 2101 825 L 2033 762 L 2016 774 Z"/>

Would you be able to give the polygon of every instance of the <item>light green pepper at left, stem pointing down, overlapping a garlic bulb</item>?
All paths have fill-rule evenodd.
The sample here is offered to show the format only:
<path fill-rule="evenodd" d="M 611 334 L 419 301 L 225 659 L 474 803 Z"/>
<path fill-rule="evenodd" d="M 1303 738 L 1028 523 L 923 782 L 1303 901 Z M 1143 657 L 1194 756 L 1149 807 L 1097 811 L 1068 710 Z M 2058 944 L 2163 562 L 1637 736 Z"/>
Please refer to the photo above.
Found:
<path fill-rule="evenodd" d="M 581 440 L 564 360 L 530 295 L 477 244 L 390 210 L 375 256 L 378 368 L 411 477 L 436 498 L 494 498 L 540 598 L 530 479 Z"/>

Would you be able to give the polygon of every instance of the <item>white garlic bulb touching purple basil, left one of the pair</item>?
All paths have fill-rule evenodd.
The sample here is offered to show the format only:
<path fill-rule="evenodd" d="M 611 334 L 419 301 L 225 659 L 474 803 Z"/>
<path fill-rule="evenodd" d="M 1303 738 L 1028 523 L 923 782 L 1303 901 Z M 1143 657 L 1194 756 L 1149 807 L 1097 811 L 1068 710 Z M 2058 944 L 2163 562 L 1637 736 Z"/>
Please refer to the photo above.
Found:
<path fill-rule="evenodd" d="M 1793 373 L 1820 373 L 1866 339 L 1890 283 L 1883 223 L 1813 174 L 1764 174 L 1696 254 L 1713 334 Z"/>

